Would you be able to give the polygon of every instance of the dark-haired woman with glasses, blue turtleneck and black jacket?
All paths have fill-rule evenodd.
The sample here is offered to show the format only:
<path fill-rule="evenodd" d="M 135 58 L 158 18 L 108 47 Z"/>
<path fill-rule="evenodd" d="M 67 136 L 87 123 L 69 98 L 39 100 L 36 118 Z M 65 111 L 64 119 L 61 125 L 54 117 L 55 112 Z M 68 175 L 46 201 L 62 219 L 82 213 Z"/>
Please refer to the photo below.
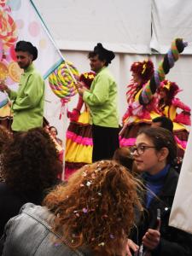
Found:
<path fill-rule="evenodd" d="M 131 154 L 146 186 L 146 212 L 138 224 L 138 236 L 133 234 L 132 239 L 147 251 L 144 255 L 192 255 L 191 236 L 168 226 L 178 180 L 172 167 L 177 156 L 172 132 L 160 127 L 139 131 Z"/>

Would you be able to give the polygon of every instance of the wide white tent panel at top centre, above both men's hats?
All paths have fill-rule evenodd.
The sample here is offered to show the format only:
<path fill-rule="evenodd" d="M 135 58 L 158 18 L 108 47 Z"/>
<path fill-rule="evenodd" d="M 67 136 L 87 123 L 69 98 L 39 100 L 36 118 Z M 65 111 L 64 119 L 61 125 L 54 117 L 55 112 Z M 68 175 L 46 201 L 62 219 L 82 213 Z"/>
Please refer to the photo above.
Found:
<path fill-rule="evenodd" d="M 90 50 L 102 42 L 115 52 L 149 53 L 151 0 L 41 0 L 40 9 L 60 49 Z"/>

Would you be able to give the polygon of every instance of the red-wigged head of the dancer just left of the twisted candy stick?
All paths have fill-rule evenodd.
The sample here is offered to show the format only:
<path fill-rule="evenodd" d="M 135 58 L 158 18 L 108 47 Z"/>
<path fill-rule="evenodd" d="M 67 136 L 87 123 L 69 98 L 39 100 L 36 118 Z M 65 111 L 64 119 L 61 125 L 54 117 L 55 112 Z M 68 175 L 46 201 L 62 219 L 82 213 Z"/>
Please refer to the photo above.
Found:
<path fill-rule="evenodd" d="M 132 78 L 134 83 L 142 85 L 146 83 L 154 74 L 154 64 L 152 61 L 137 61 L 131 65 Z"/>

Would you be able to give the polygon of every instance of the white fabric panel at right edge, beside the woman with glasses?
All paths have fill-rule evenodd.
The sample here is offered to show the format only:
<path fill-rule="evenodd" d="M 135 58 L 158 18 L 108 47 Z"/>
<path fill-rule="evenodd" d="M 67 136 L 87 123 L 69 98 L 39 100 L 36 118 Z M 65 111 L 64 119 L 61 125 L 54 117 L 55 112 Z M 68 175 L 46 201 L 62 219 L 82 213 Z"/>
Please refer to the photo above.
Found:
<path fill-rule="evenodd" d="M 192 132 L 190 131 L 183 166 L 177 183 L 169 224 L 192 234 Z"/>

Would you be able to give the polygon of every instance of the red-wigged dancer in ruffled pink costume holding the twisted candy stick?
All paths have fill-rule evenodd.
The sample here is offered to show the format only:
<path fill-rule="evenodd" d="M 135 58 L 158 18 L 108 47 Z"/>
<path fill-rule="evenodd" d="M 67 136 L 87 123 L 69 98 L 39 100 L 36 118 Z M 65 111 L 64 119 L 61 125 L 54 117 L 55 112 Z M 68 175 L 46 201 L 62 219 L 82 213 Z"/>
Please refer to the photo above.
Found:
<path fill-rule="evenodd" d="M 123 129 L 120 132 L 119 143 L 120 147 L 130 147 L 135 144 L 137 132 L 143 126 L 150 125 L 152 119 L 160 116 L 154 112 L 155 99 L 154 96 L 147 105 L 142 105 L 139 102 L 139 96 L 149 79 L 154 74 L 154 64 L 152 61 L 138 61 L 131 65 L 131 72 L 136 74 L 141 83 L 137 84 L 134 79 L 127 86 L 126 99 L 128 108 L 123 116 Z"/>

